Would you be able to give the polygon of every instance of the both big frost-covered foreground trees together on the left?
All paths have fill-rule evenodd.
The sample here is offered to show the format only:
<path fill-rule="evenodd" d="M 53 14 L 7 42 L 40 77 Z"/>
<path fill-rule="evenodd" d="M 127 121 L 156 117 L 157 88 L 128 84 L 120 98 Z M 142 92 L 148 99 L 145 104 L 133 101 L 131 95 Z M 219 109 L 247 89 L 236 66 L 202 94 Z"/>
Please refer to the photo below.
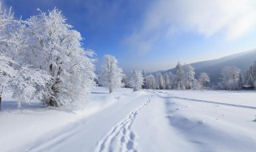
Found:
<path fill-rule="evenodd" d="M 94 86 L 94 52 L 54 9 L 27 20 L 0 7 L 0 102 L 6 88 L 21 101 L 77 106 Z"/>

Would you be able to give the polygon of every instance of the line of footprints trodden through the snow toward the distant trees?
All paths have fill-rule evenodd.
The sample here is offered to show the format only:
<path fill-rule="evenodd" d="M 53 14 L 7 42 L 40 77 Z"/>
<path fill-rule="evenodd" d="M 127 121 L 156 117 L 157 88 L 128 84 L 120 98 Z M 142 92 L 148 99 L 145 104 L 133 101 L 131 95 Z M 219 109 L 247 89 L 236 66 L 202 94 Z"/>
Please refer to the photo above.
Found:
<path fill-rule="evenodd" d="M 98 142 L 96 152 L 112 152 L 112 151 L 138 151 L 136 150 L 134 143 L 136 134 L 131 130 L 131 126 L 134 123 L 136 116 L 139 114 L 142 108 L 146 107 L 153 97 L 150 94 L 149 98 L 142 105 L 136 107 L 126 116 L 122 122 L 119 122 L 116 126 L 110 130 L 110 132 Z"/>

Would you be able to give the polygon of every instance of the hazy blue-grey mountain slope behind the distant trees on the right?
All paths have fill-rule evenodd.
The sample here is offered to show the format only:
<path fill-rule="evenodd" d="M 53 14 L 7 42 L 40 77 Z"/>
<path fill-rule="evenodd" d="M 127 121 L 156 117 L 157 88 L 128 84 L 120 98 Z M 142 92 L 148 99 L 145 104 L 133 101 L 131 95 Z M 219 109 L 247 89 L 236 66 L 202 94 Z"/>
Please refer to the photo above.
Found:
<path fill-rule="evenodd" d="M 256 60 L 256 49 L 245 51 L 238 54 L 229 55 L 223 58 L 218 58 L 214 60 L 208 60 L 203 62 L 194 62 L 190 65 L 194 67 L 196 73 L 195 77 L 202 72 L 210 74 L 210 81 L 212 83 L 220 82 L 222 78 L 221 71 L 225 66 L 237 66 L 242 70 L 244 77 L 246 76 L 246 71 L 249 70 L 250 66 L 254 64 Z M 174 73 L 174 68 L 166 70 L 165 72 L 171 71 Z"/>

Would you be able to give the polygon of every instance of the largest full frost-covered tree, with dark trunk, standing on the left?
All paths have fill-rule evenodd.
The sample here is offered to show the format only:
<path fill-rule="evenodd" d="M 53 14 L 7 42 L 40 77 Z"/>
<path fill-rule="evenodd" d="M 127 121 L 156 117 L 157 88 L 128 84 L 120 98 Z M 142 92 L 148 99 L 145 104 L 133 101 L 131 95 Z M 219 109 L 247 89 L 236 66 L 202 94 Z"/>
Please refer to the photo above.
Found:
<path fill-rule="evenodd" d="M 46 71 L 51 81 L 41 89 L 46 106 L 78 106 L 94 86 L 94 52 L 82 48 L 81 34 L 62 12 L 41 12 L 28 21 L 25 62 Z"/>

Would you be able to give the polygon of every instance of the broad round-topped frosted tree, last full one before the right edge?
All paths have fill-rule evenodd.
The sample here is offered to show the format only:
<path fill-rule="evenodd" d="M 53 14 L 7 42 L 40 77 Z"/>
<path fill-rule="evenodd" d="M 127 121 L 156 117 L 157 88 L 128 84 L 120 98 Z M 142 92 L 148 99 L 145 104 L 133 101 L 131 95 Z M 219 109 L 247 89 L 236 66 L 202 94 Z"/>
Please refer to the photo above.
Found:
<path fill-rule="evenodd" d="M 236 66 L 226 66 L 222 69 L 222 84 L 224 89 L 238 90 L 241 70 Z"/>

